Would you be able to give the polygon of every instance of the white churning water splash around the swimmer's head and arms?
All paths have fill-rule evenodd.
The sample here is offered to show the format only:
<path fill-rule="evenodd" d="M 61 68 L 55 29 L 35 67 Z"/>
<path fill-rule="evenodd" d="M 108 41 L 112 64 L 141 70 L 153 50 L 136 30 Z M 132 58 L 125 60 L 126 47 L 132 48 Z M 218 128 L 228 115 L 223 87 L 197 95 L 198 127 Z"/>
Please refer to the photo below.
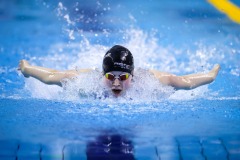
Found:
<path fill-rule="evenodd" d="M 208 67 L 208 58 L 211 56 L 206 57 L 207 51 L 197 50 L 195 58 L 189 56 L 189 62 L 182 63 L 176 59 L 176 54 L 179 53 L 158 45 L 158 40 L 153 33 L 148 34 L 140 29 L 132 28 L 127 30 L 125 35 L 128 38 L 123 45 L 133 53 L 136 70 L 132 87 L 121 98 L 118 98 L 118 102 L 126 102 L 130 99 L 147 102 L 162 101 L 163 99 L 190 100 L 205 97 L 209 91 L 207 85 L 191 91 L 174 91 L 172 87 L 161 85 L 147 72 L 147 69 L 154 68 L 168 72 L 171 70 L 173 72 L 202 72 L 193 66 L 202 65 L 204 62 L 204 65 Z M 64 44 L 53 45 L 49 52 L 56 52 L 55 56 L 39 57 L 42 65 L 50 66 L 50 68 L 55 66 L 60 70 L 91 68 L 97 71 L 89 73 L 89 75 L 81 74 L 77 79 L 68 80 L 63 90 L 59 87 L 42 84 L 37 80 L 27 79 L 25 88 L 31 92 L 32 97 L 70 101 L 109 99 L 104 98 L 106 89 L 101 83 L 100 75 L 102 58 L 111 46 L 91 44 L 87 39 L 83 39 L 79 43 L 68 45 L 67 51 L 65 51 L 65 47 Z M 61 48 L 61 53 L 59 53 L 59 48 Z M 69 53 L 69 48 L 72 53 Z M 201 61 L 197 63 L 199 59 Z"/>

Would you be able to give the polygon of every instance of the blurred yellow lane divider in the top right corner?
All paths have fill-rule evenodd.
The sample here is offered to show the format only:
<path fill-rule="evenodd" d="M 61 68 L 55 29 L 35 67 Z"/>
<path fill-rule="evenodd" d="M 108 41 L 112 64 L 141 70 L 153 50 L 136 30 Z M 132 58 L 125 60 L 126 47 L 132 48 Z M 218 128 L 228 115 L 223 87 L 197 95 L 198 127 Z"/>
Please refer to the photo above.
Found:
<path fill-rule="evenodd" d="M 240 24 L 240 8 L 229 0 L 208 0 L 216 9 L 226 14 L 232 21 Z"/>

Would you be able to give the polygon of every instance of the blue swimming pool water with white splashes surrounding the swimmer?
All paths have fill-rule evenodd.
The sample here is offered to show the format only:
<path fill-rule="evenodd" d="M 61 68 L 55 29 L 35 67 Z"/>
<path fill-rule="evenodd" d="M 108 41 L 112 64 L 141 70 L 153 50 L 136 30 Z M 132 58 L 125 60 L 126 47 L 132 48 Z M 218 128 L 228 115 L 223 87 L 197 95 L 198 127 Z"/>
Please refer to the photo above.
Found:
<path fill-rule="evenodd" d="M 240 27 L 207 1 L 6 0 L 0 21 L 1 159 L 86 159 L 101 135 L 127 139 L 136 159 L 239 159 Z M 16 71 L 20 59 L 101 70 L 114 44 L 133 53 L 140 93 L 96 99 L 95 74 L 62 90 Z M 216 81 L 191 91 L 153 92 L 142 70 L 180 75 L 216 63 Z"/>

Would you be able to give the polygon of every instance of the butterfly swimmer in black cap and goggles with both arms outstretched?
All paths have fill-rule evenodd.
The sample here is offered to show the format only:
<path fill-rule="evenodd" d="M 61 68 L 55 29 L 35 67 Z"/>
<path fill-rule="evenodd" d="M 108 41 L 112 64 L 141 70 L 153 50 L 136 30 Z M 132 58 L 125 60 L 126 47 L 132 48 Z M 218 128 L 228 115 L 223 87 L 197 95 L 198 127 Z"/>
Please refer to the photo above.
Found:
<path fill-rule="evenodd" d="M 104 83 L 117 97 L 130 86 L 134 76 L 134 60 L 132 53 L 120 45 L 113 46 L 103 58 L 102 73 Z M 220 66 L 217 64 L 208 73 L 197 73 L 177 76 L 171 73 L 150 69 L 163 85 L 178 89 L 194 89 L 196 87 L 213 82 L 218 74 Z M 19 69 L 25 77 L 34 77 L 45 84 L 62 86 L 63 79 L 70 79 L 92 69 L 58 71 L 40 66 L 32 66 L 26 60 L 21 60 Z"/>

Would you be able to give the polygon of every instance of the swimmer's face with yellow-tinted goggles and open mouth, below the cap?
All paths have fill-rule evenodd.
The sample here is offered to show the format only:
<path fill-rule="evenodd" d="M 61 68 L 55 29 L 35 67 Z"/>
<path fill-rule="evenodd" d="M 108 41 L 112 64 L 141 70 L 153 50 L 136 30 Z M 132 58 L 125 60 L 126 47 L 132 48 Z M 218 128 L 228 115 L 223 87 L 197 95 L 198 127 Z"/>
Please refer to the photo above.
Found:
<path fill-rule="evenodd" d="M 106 85 L 112 90 L 115 96 L 121 95 L 131 83 L 132 75 L 127 72 L 112 71 L 104 76 Z"/>

